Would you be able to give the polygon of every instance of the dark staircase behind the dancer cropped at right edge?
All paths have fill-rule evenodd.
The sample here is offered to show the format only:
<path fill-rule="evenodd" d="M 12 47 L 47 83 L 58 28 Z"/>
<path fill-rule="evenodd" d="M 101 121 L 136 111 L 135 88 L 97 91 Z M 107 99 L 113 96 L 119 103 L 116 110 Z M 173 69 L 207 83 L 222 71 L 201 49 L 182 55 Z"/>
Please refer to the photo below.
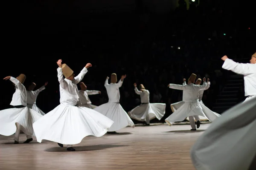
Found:
<path fill-rule="evenodd" d="M 216 113 L 223 113 L 229 108 L 239 103 L 239 90 L 244 85 L 243 75 L 231 75 L 224 88 L 216 98 L 216 103 L 212 110 Z"/>

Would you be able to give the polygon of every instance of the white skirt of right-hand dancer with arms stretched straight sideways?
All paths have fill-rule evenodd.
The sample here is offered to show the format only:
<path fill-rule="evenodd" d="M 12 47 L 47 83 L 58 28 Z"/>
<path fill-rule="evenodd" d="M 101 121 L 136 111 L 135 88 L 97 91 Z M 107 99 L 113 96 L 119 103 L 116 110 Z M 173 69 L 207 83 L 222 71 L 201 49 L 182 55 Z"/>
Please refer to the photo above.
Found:
<path fill-rule="evenodd" d="M 203 112 L 200 102 L 184 102 L 177 111 L 173 112 L 169 117 L 165 119 L 168 125 L 172 125 L 174 122 L 181 122 L 188 116 L 203 116 L 209 119 Z"/>

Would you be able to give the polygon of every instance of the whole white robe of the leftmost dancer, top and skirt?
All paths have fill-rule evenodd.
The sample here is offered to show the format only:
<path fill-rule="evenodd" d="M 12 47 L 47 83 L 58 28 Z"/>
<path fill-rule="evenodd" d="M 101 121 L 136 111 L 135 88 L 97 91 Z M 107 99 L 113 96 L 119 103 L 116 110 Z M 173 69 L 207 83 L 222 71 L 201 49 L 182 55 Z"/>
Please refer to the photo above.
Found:
<path fill-rule="evenodd" d="M 10 79 L 15 84 L 15 93 L 12 96 L 11 105 L 22 108 L 9 108 L 0 111 L 0 135 L 11 136 L 17 130 L 17 124 L 23 126 L 27 136 L 35 136 L 32 124 L 42 115 L 26 106 L 27 93 L 25 86 L 14 77 Z M 25 133 L 24 130 L 24 133 Z"/>

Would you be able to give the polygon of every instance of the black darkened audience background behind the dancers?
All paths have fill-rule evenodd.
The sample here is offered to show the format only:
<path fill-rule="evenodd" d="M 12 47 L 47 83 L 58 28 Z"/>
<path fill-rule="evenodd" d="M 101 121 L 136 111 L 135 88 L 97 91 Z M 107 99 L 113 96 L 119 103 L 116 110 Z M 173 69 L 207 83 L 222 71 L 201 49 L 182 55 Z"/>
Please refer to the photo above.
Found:
<path fill-rule="evenodd" d="M 170 104 L 182 100 L 182 91 L 167 88 L 182 84 L 195 73 L 212 85 L 204 92 L 211 109 L 225 79 L 224 55 L 249 62 L 256 51 L 255 7 L 246 1 L 201 0 L 186 10 L 184 1 L 166 0 L 21 0 L 3 6 L 0 76 L 26 74 L 25 85 L 37 88 L 48 81 L 37 105 L 45 113 L 59 104 L 58 68 L 62 59 L 79 74 L 90 62 L 83 79 L 94 105 L 108 102 L 105 77 L 127 74 L 120 88 L 120 103 L 129 111 L 140 104 L 133 83 L 143 83 L 150 102 Z M 178 49 L 178 47 L 180 49 Z M 0 109 L 10 108 L 14 93 L 10 81 L 1 80 Z M 241 88 L 242 89 L 242 88 Z M 241 90 L 241 93 L 243 91 Z M 241 99 L 244 97 L 241 95 Z"/>

